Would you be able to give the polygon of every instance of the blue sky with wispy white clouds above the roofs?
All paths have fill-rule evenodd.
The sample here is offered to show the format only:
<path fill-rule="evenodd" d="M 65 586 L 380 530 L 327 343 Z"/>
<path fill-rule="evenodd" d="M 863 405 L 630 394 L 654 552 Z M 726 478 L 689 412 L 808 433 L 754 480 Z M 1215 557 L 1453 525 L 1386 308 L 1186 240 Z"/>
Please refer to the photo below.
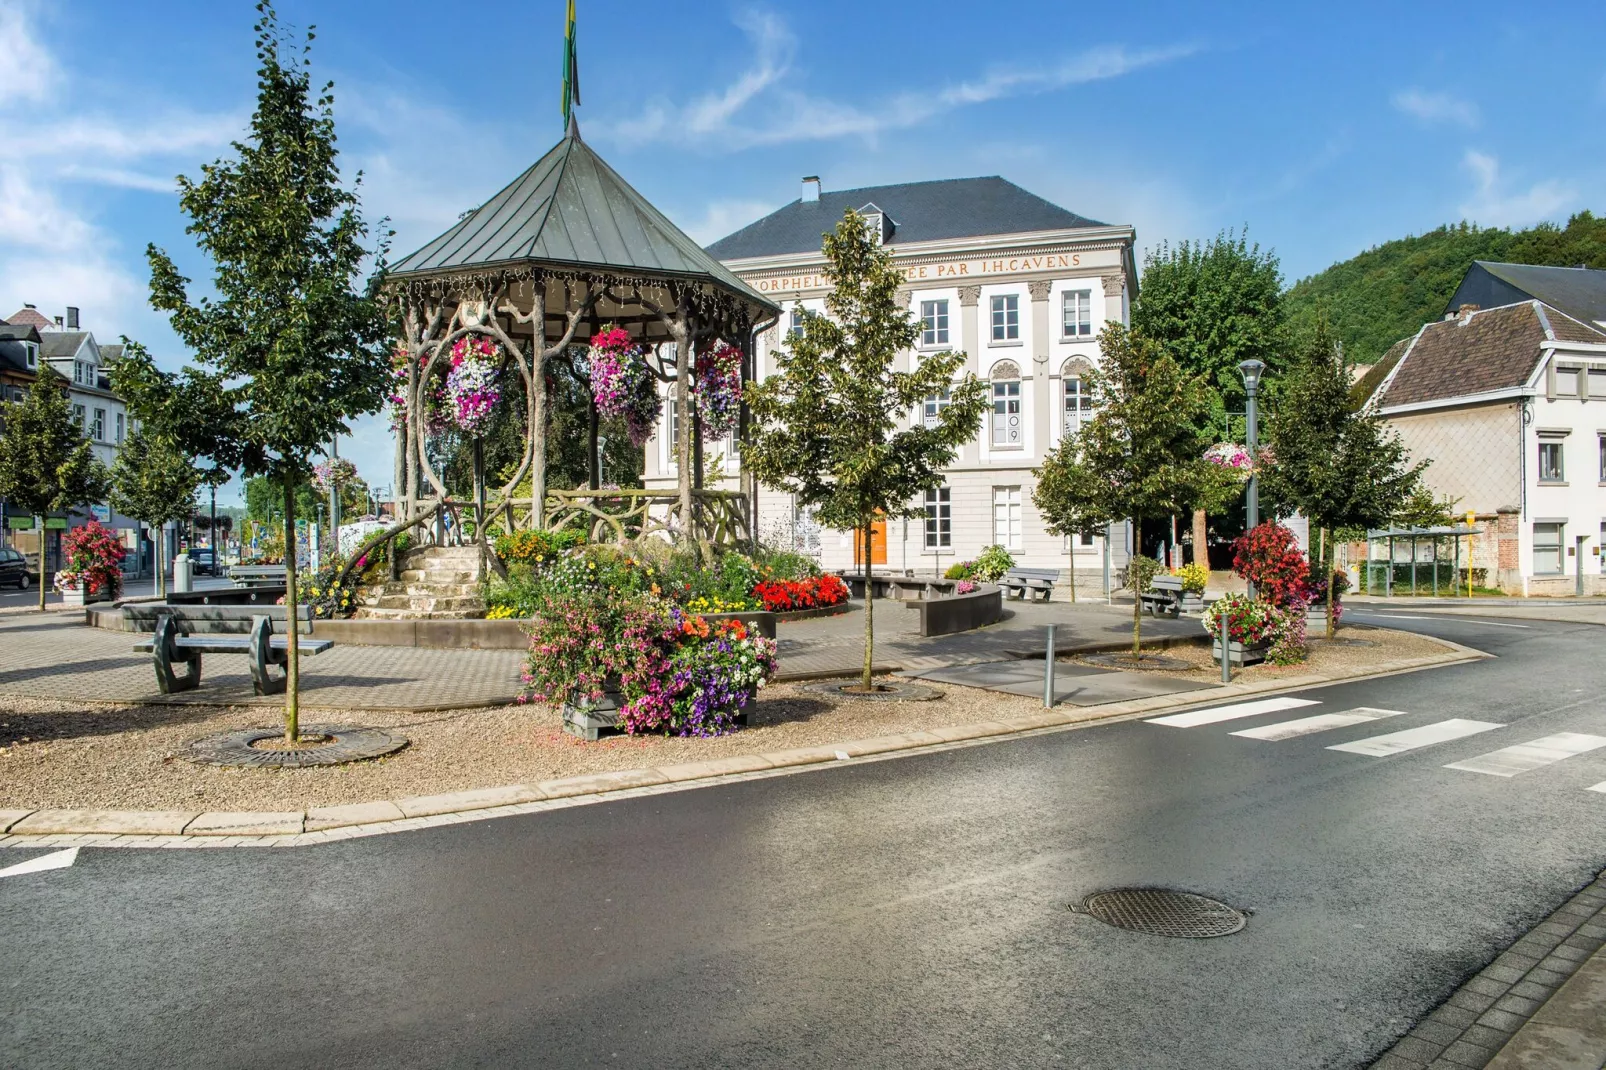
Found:
<path fill-rule="evenodd" d="M 278 10 L 316 27 L 344 172 L 363 172 L 398 255 L 562 135 L 564 0 Z M 1131 223 L 1140 249 L 1248 228 L 1290 283 L 1461 218 L 1606 212 L 1598 0 L 577 10 L 583 137 L 705 243 L 797 199 L 801 175 L 996 174 Z M 173 177 L 244 133 L 254 16 L 249 0 L 0 0 L 0 317 L 77 305 L 101 342 L 188 358 L 146 304 L 145 249 L 204 292 Z M 377 487 L 384 427 L 340 443 Z"/>

